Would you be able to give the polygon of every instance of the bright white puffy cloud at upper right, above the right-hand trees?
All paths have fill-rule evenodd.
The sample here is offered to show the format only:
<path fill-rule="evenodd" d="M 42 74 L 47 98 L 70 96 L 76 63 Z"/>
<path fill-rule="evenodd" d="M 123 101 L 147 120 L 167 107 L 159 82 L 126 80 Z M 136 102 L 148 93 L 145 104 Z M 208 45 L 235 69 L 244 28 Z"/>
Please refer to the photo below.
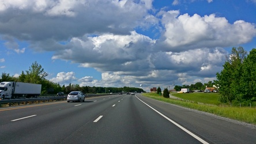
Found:
<path fill-rule="evenodd" d="M 163 13 L 165 51 L 186 51 L 195 48 L 228 47 L 247 43 L 256 36 L 255 25 L 242 20 L 229 24 L 214 14 L 179 15 L 178 11 Z"/>

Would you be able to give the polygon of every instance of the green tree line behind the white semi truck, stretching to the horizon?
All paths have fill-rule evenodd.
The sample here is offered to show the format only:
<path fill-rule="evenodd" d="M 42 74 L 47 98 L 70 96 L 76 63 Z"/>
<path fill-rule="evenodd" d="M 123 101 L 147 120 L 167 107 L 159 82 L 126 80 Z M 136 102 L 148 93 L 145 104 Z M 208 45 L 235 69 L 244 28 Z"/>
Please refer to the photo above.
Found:
<path fill-rule="evenodd" d="M 96 87 L 96 86 L 80 86 L 78 84 L 59 85 L 58 83 L 51 82 L 47 77 L 46 71 L 39 63 L 34 62 L 28 70 L 21 71 L 18 77 L 10 76 L 10 74 L 2 73 L 0 76 L 0 82 L 13 81 L 13 82 L 28 82 L 32 84 L 41 84 L 41 94 L 57 94 L 58 92 L 70 93 L 71 91 L 81 91 L 83 93 L 120 93 L 120 92 L 144 92 L 141 88 L 131 88 L 124 86 L 123 88 L 112 87 Z"/>

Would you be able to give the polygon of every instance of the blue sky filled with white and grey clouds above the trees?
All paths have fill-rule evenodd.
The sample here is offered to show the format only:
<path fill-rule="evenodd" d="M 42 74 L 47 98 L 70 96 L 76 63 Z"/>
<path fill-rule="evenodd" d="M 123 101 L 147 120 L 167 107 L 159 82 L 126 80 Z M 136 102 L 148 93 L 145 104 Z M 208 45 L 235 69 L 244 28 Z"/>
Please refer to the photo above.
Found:
<path fill-rule="evenodd" d="M 256 48 L 256 0 L 0 0 L 0 73 L 39 63 L 62 85 L 161 89 L 216 79 Z"/>

